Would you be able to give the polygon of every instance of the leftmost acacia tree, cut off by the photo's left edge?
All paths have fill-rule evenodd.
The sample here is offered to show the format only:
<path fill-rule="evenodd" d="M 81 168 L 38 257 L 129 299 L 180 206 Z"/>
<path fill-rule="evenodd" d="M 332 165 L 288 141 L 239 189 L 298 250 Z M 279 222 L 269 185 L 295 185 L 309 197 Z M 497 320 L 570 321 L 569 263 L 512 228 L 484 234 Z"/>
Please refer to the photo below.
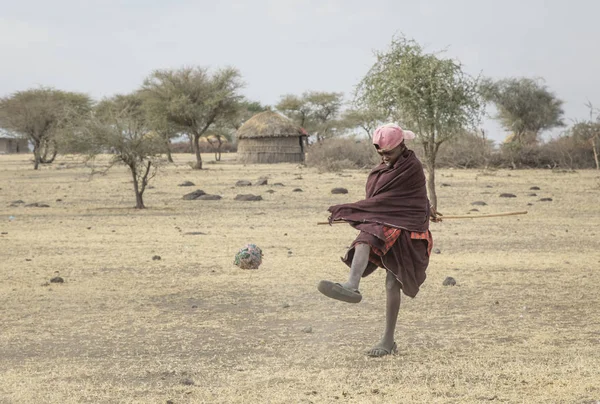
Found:
<path fill-rule="evenodd" d="M 54 161 L 57 138 L 91 106 L 91 99 L 81 93 L 47 87 L 17 91 L 0 99 L 0 126 L 31 142 L 37 170 L 40 164 Z"/>

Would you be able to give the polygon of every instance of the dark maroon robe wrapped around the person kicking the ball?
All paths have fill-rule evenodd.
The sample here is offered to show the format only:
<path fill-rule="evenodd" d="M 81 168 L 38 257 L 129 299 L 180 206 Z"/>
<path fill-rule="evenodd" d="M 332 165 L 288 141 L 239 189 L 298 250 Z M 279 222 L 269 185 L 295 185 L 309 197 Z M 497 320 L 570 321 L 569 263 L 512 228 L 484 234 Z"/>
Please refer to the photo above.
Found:
<path fill-rule="evenodd" d="M 415 297 L 425 281 L 429 264 L 428 242 L 412 239 L 411 233 L 429 231 L 429 200 L 423 166 L 406 150 L 392 166 L 380 164 L 367 178 L 366 198 L 329 208 L 329 222 L 343 220 L 361 231 L 342 261 L 352 264 L 354 246 L 366 243 L 384 251 L 384 226 L 402 229 L 396 243 L 381 257 L 386 270 L 396 276 L 403 292 Z M 363 276 L 377 269 L 369 262 Z"/>

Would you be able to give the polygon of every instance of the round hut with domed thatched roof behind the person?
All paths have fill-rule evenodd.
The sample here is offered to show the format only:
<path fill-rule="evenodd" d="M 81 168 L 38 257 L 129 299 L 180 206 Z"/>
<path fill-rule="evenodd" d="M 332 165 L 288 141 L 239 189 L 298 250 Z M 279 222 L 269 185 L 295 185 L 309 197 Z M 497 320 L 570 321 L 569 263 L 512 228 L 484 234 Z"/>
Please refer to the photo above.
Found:
<path fill-rule="evenodd" d="M 303 163 L 308 133 L 290 119 L 265 111 L 237 131 L 238 161 L 242 163 Z"/>

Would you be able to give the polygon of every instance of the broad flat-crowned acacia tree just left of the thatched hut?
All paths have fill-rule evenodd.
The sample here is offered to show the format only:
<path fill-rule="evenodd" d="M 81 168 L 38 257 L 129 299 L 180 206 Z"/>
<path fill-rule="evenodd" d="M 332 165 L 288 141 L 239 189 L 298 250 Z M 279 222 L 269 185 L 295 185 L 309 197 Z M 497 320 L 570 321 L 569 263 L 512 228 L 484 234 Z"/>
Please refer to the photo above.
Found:
<path fill-rule="evenodd" d="M 199 140 L 219 119 L 235 114 L 243 84 L 238 70 L 219 69 L 210 74 L 201 67 L 156 70 L 142 92 L 165 106 L 167 119 L 191 136 L 195 169 L 202 169 Z"/>

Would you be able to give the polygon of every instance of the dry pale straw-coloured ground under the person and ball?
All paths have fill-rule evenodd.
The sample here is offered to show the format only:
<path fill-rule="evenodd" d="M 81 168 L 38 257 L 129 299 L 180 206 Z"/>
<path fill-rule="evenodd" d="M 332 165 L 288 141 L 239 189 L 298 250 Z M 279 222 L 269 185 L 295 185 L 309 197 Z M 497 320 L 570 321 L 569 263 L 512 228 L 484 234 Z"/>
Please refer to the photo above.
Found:
<path fill-rule="evenodd" d="M 440 170 L 446 215 L 529 213 L 432 224 L 439 253 L 403 300 L 399 354 L 370 359 L 383 271 L 358 305 L 316 290 L 345 278 L 356 235 L 316 223 L 362 198 L 367 171 L 204 157 L 194 171 L 176 155 L 137 211 L 124 168 L 0 156 L 0 403 L 600 402 L 597 171 Z M 196 189 L 223 199 L 182 199 Z M 258 270 L 233 265 L 249 242 Z"/>

